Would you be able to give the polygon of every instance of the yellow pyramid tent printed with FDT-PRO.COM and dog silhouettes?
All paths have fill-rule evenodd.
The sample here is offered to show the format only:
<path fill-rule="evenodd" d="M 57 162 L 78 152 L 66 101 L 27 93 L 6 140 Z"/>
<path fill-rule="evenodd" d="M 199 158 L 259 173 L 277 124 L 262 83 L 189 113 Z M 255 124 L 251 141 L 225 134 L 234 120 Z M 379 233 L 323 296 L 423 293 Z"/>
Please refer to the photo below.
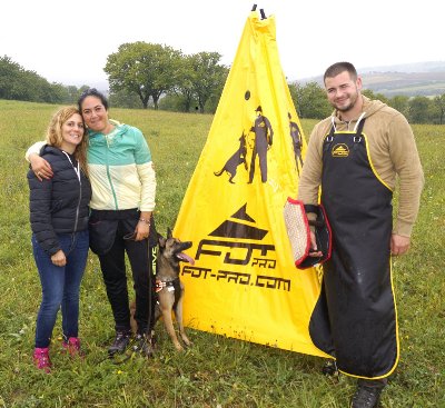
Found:
<path fill-rule="evenodd" d="M 253 11 L 174 231 L 194 242 L 188 327 L 327 357 L 308 331 L 319 271 L 295 267 L 283 216 L 305 148 L 275 18 Z"/>

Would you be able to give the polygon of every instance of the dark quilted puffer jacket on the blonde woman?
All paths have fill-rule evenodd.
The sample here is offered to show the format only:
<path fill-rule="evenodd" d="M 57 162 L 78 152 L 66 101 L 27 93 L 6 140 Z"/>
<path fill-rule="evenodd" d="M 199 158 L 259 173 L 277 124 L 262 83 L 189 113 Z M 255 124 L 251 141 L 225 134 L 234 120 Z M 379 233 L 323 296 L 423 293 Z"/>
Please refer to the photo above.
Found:
<path fill-rule="evenodd" d="M 88 228 L 91 185 L 82 171 L 79 182 L 75 167 L 60 149 L 44 146 L 40 156 L 51 165 L 53 177 L 39 181 L 32 170 L 28 172 L 30 221 L 37 241 L 52 256 L 60 249 L 57 233 Z"/>

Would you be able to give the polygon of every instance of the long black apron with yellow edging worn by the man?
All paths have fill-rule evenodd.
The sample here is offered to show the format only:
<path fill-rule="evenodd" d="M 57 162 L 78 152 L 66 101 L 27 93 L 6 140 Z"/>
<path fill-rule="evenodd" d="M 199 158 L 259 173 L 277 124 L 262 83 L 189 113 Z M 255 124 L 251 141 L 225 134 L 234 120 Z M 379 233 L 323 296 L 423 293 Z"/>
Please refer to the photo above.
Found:
<path fill-rule="evenodd" d="M 398 360 L 390 276 L 392 191 L 372 166 L 365 120 L 330 129 L 323 146 L 322 203 L 333 230 L 322 296 L 309 331 L 344 374 L 377 379 Z"/>

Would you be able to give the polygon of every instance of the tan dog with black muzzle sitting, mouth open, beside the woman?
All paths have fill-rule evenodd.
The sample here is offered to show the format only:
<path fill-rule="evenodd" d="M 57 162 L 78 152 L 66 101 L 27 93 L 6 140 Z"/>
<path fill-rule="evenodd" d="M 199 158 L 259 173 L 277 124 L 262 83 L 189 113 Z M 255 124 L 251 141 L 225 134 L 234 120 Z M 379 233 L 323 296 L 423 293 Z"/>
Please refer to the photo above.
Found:
<path fill-rule="evenodd" d="M 184 329 L 182 322 L 182 300 L 184 300 L 184 283 L 179 279 L 179 262 L 195 263 L 195 260 L 182 251 L 191 248 L 192 242 L 181 242 L 178 238 L 174 238 L 171 230 L 167 229 L 167 238 L 158 233 L 158 257 L 156 267 L 156 295 L 157 302 L 155 307 L 155 322 L 160 317 L 164 319 L 167 332 L 178 351 L 184 351 L 184 347 L 176 336 L 171 312 L 175 312 L 176 322 L 178 325 L 180 338 L 186 347 L 191 346 Z M 131 327 L 136 331 L 135 302 L 130 305 Z"/>

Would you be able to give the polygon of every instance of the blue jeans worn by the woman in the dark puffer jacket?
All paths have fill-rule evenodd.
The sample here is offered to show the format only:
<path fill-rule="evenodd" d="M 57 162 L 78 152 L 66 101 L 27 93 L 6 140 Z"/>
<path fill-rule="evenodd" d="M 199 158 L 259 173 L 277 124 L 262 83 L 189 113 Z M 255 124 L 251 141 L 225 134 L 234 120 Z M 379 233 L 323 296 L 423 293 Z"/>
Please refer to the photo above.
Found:
<path fill-rule="evenodd" d="M 36 325 L 36 347 L 49 346 L 57 314 L 61 307 L 63 337 L 78 337 L 79 289 L 88 257 L 88 230 L 58 235 L 67 265 L 58 267 L 32 236 L 32 249 L 40 276 L 42 301 Z"/>

